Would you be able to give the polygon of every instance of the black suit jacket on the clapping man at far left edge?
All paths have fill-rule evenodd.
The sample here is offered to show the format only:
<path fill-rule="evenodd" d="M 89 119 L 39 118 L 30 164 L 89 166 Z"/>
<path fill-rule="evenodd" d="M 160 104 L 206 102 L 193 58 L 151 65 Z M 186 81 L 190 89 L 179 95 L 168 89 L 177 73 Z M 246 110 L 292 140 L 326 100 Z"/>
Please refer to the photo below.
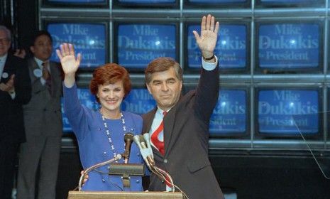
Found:
<path fill-rule="evenodd" d="M 1 77 L 0 83 L 6 83 L 15 74 L 16 96 L 11 99 L 8 92 L 0 90 L 0 141 L 21 143 L 26 141 L 22 105 L 31 98 L 28 65 L 25 60 L 8 54 L 2 74 L 4 72 L 8 77 Z"/>

